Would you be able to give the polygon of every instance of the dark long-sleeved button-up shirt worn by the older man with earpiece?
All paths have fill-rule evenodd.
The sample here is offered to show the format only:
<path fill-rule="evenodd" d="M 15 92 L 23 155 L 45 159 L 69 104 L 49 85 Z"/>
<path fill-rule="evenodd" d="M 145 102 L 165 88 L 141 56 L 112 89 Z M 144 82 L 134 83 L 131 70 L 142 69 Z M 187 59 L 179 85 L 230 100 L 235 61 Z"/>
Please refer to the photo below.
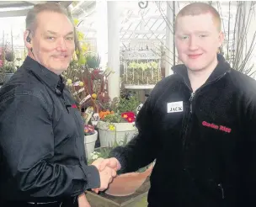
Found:
<path fill-rule="evenodd" d="M 0 200 L 61 200 L 99 188 L 83 139 L 61 77 L 27 57 L 0 90 Z"/>

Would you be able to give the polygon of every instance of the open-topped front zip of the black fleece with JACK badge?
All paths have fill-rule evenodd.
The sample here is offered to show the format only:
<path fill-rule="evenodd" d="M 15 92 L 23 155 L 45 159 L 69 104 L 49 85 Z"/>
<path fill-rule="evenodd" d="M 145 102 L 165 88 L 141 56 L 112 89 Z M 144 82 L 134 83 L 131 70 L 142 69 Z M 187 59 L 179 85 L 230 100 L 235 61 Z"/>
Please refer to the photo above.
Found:
<path fill-rule="evenodd" d="M 200 88 L 198 88 L 195 92 L 192 91 L 191 88 L 189 88 L 189 85 L 185 82 L 185 79 L 184 79 L 184 83 L 185 85 L 189 88 L 189 91 L 190 91 L 190 98 L 189 98 L 189 115 L 188 115 L 188 118 L 185 120 L 185 125 L 184 125 L 184 135 L 182 137 L 182 141 L 183 141 L 183 148 L 185 146 L 185 141 L 186 141 L 186 135 L 187 135 L 187 131 L 188 131 L 188 128 L 189 128 L 189 122 L 190 122 L 190 119 L 192 117 L 192 113 L 193 113 L 193 100 L 195 100 L 195 95 L 197 93 L 199 93 L 200 90 L 202 90 L 202 88 L 205 88 L 206 86 L 214 83 L 214 82 L 217 82 L 219 81 L 222 77 L 225 77 L 227 74 L 227 72 L 225 72 L 224 74 L 222 74 L 221 76 L 217 77 L 215 80 L 213 80 L 212 82 L 208 82 L 204 85 L 202 85 Z"/>

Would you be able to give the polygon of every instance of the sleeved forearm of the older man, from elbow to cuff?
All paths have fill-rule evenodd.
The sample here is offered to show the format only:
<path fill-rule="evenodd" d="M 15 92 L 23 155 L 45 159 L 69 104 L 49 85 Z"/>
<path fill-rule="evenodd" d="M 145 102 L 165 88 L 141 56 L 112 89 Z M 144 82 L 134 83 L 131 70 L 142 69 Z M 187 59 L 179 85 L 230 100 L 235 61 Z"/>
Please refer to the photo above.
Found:
<path fill-rule="evenodd" d="M 83 194 L 88 188 L 99 188 L 99 171 L 94 166 L 63 166 L 40 162 L 15 175 L 19 188 L 32 197 L 62 197 Z"/>

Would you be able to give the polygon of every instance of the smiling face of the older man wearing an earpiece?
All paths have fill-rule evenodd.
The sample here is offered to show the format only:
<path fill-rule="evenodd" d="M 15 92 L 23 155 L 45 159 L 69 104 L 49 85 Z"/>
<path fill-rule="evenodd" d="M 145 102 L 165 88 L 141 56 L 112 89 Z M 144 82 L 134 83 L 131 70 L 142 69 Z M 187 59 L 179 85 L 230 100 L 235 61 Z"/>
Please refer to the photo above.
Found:
<path fill-rule="evenodd" d="M 73 25 L 66 15 L 54 12 L 39 13 L 31 39 L 31 43 L 26 42 L 27 48 L 32 48 L 33 51 L 29 52 L 29 56 L 58 75 L 67 70 L 75 43 Z"/>

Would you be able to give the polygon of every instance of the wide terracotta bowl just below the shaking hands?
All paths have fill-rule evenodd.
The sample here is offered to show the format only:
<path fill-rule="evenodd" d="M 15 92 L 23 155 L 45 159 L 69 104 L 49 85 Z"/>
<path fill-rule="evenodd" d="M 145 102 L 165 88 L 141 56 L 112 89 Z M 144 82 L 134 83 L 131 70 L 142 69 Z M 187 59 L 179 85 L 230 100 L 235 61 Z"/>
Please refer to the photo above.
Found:
<path fill-rule="evenodd" d="M 125 173 L 114 178 L 109 184 L 105 194 L 113 196 L 127 196 L 134 194 L 138 188 L 145 182 L 146 178 L 152 173 L 153 165 L 142 173 Z"/>

